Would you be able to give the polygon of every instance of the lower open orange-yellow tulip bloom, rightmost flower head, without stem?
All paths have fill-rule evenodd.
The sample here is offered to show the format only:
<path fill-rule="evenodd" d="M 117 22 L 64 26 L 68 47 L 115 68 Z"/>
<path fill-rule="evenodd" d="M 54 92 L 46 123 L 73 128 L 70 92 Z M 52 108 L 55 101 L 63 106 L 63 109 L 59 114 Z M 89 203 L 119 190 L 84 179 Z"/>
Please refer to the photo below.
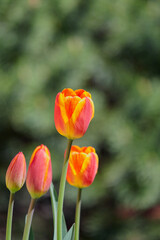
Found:
<path fill-rule="evenodd" d="M 98 170 L 98 155 L 93 147 L 72 146 L 67 169 L 67 181 L 77 188 L 92 184 Z"/>

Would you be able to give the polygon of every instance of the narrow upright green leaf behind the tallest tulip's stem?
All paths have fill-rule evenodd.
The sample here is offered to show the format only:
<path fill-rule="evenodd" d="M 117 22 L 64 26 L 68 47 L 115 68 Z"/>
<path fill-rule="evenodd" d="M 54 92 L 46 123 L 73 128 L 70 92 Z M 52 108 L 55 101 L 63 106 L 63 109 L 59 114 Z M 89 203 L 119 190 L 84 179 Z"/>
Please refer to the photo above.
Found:
<path fill-rule="evenodd" d="M 53 240 L 57 240 L 57 206 L 58 206 L 58 197 L 53 183 L 50 186 L 50 195 L 51 195 L 51 205 L 53 212 L 53 221 L 54 221 L 54 237 Z M 67 226 L 65 222 L 64 215 L 62 216 L 62 237 L 67 234 Z"/>

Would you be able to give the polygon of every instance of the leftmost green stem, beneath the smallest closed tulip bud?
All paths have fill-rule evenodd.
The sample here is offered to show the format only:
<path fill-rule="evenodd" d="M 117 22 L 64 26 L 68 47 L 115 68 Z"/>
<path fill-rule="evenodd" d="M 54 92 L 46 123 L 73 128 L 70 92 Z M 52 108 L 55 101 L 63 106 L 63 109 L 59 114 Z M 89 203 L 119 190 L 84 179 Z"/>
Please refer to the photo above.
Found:
<path fill-rule="evenodd" d="M 10 198 L 9 198 L 9 204 L 8 204 L 8 215 L 7 215 L 7 226 L 6 226 L 6 240 L 11 240 L 13 206 L 14 206 L 14 194 L 10 192 Z"/>

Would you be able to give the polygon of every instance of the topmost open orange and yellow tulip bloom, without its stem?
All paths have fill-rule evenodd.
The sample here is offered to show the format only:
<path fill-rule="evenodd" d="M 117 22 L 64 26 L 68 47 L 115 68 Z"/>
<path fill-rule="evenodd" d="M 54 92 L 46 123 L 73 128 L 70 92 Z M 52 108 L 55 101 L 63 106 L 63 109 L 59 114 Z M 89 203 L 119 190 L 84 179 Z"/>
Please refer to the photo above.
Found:
<path fill-rule="evenodd" d="M 73 91 L 66 88 L 57 94 L 54 122 L 61 135 L 68 139 L 82 137 L 93 117 L 94 104 L 90 93 L 83 89 Z"/>

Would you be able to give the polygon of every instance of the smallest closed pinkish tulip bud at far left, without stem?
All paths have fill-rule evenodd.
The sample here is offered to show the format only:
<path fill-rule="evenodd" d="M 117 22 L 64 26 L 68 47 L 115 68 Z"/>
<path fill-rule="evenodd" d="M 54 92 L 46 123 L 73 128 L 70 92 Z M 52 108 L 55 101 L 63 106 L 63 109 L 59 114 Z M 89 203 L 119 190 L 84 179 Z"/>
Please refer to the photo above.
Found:
<path fill-rule="evenodd" d="M 11 193 L 20 190 L 26 179 L 26 160 L 19 152 L 11 161 L 6 172 L 6 186 Z"/>

